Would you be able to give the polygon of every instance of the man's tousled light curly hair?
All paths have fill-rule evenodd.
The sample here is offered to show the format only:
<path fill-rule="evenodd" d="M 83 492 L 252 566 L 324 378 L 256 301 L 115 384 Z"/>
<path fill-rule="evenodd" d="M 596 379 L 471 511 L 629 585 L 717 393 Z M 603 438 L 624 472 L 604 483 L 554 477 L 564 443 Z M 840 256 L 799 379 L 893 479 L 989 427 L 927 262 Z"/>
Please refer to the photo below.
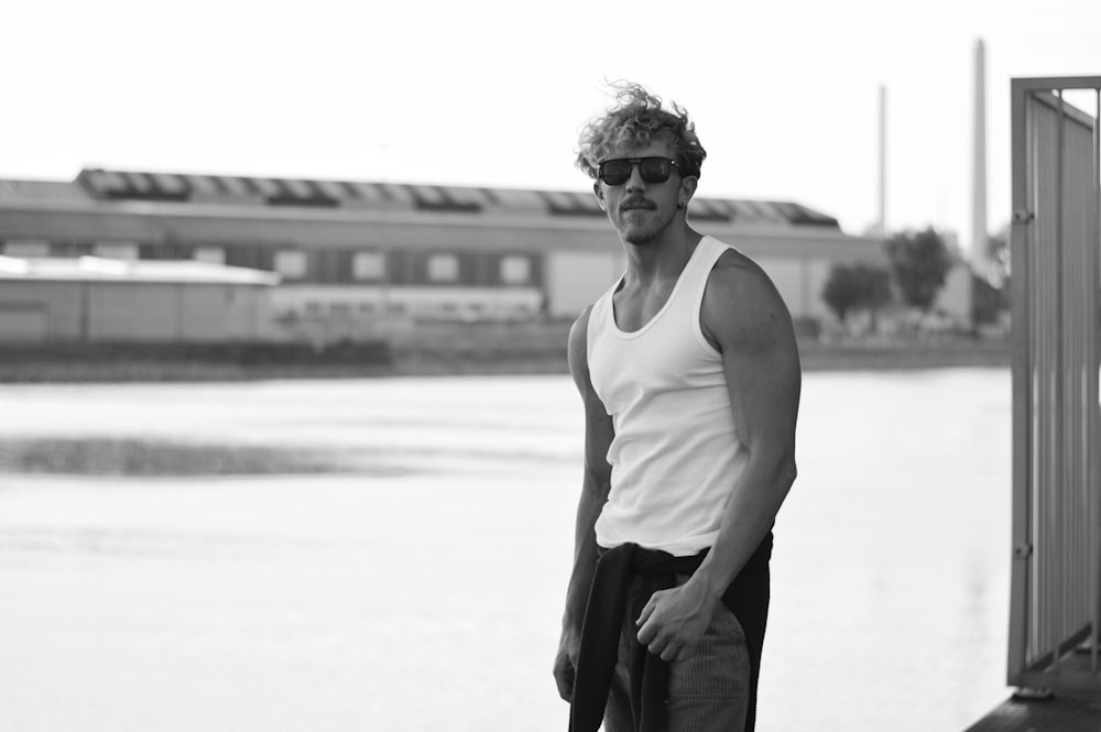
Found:
<path fill-rule="evenodd" d="M 684 174 L 699 177 L 707 151 L 699 143 L 687 110 L 676 102 L 666 109 L 662 98 L 641 84 L 617 81 L 610 86 L 615 90 L 615 105 L 581 129 L 575 164 L 596 178 L 597 166 L 617 150 L 644 148 L 666 139 Z"/>

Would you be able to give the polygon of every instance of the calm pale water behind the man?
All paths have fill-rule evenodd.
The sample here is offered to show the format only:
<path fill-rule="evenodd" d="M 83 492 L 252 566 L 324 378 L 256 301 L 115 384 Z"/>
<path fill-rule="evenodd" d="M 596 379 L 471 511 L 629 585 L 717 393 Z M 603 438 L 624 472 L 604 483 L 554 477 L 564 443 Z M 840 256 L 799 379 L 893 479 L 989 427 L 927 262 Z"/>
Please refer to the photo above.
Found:
<path fill-rule="evenodd" d="M 0 386 L 0 732 L 564 730 L 580 428 L 557 376 Z M 1007 371 L 806 376 L 762 732 L 1006 696 L 1010 454 Z"/>

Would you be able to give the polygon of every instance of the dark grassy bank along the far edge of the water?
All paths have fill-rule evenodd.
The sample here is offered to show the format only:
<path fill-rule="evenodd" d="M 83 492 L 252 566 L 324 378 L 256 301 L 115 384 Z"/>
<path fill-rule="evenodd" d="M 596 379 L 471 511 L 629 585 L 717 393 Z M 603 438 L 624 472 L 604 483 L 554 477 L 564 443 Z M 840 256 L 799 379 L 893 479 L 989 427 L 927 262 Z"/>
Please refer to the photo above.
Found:
<path fill-rule="evenodd" d="M 390 342 L 48 345 L 0 348 L 0 383 L 238 381 L 566 373 L 568 325 L 440 324 Z M 803 340 L 804 371 L 1007 367 L 1009 345 L 968 338 Z"/>

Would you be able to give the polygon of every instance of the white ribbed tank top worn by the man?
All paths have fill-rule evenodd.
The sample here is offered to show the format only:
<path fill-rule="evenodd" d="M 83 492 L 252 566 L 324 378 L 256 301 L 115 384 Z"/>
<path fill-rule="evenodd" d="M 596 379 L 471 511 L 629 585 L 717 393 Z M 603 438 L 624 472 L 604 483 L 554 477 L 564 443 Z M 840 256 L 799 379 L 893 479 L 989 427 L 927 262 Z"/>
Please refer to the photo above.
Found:
<path fill-rule="evenodd" d="M 615 325 L 615 285 L 589 314 L 589 378 L 615 436 L 597 544 L 688 556 L 710 547 L 748 455 L 734 428 L 722 357 L 704 337 L 708 275 L 729 249 L 704 237 L 668 301 L 641 329 Z"/>

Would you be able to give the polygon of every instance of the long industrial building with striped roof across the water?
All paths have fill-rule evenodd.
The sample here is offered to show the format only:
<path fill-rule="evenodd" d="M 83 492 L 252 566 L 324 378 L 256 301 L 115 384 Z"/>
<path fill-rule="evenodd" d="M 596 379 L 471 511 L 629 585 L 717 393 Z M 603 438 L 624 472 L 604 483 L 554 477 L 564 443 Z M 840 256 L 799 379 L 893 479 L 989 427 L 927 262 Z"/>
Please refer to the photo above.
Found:
<path fill-rule="evenodd" d="M 756 260 L 797 319 L 831 317 L 819 294 L 835 263 L 885 264 L 880 240 L 846 234 L 833 218 L 798 204 L 696 198 L 689 220 Z M 9 270 L 41 258 L 201 262 L 231 267 L 224 277 L 238 287 L 243 270 L 273 273 L 279 284 L 262 288 L 270 291 L 262 308 L 270 307 L 273 327 L 231 329 L 233 336 L 323 341 L 378 337 L 429 319 L 570 319 L 625 266 L 590 192 L 99 168 L 72 182 L 0 181 L 0 254 Z M 128 272 L 142 276 L 141 267 Z M 0 288 L 17 282 L 9 275 Z M 164 307 L 168 302 L 162 298 Z M 14 323 L 14 297 L 0 303 L 0 319 Z M 140 320 L 161 310 L 139 312 Z M 35 316 L 20 317 L 0 325 L 0 334 L 42 328 L 30 324 Z M 163 326 L 135 320 L 133 332 L 218 336 Z M 100 332 L 66 326 L 44 337 Z"/>

